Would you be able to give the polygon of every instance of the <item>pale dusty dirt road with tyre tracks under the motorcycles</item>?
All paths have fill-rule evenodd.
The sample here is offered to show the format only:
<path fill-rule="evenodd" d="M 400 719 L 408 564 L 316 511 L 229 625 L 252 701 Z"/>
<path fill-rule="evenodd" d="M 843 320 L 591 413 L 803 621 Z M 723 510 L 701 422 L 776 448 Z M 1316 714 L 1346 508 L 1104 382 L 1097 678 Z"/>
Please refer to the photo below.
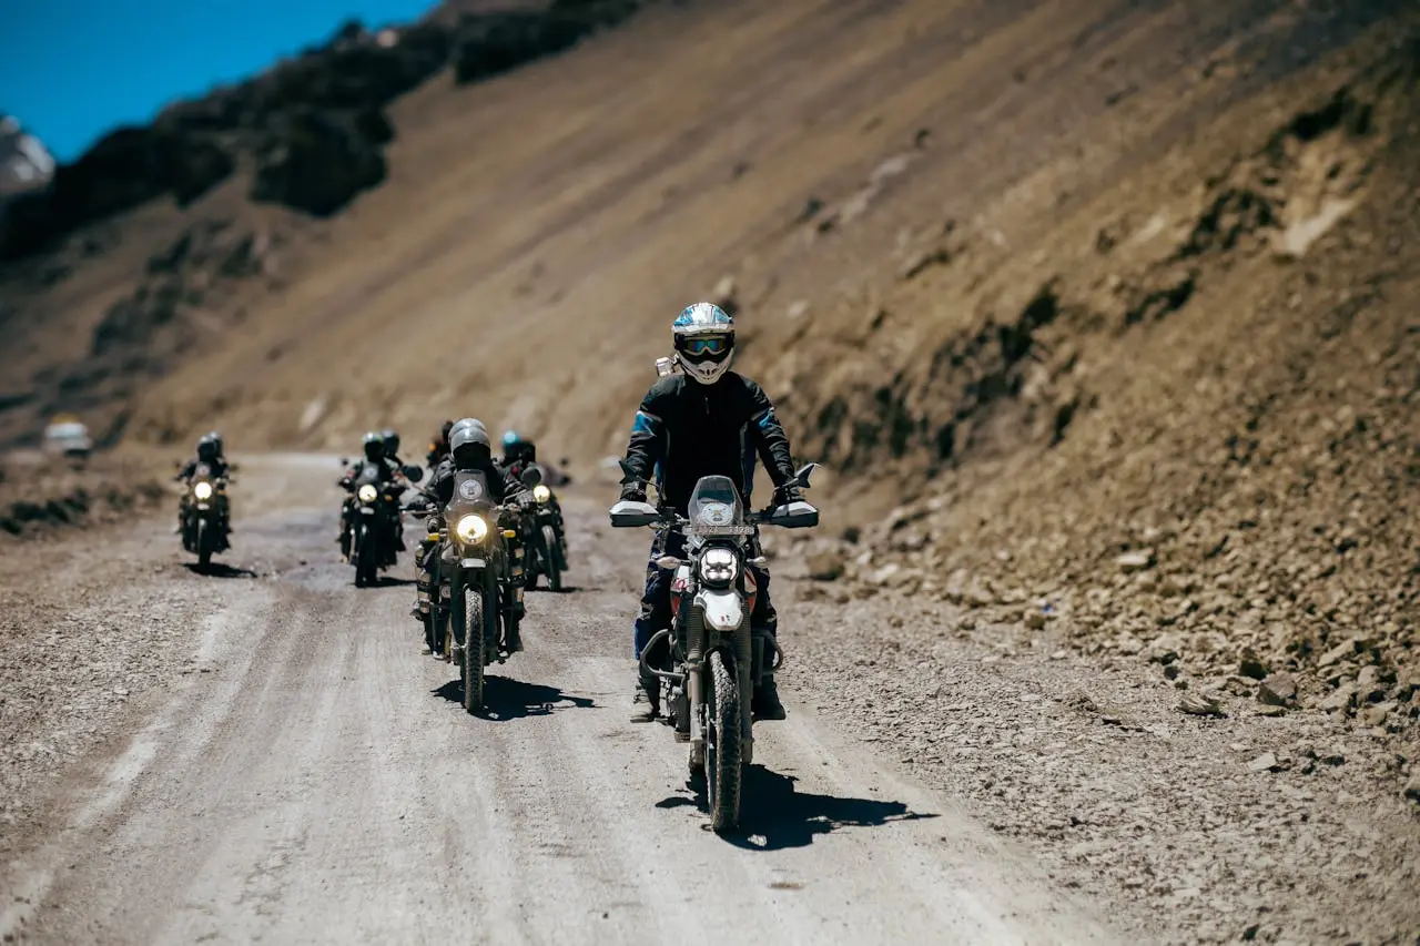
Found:
<path fill-rule="evenodd" d="M 569 497 L 578 588 L 530 595 L 528 649 L 496 668 L 491 719 L 473 719 L 452 668 L 419 652 L 408 565 L 356 591 L 335 560 L 334 462 L 247 466 L 230 580 L 173 565 L 165 523 L 125 540 L 149 575 L 115 589 L 126 621 L 187 615 L 165 645 L 182 669 L 156 669 L 170 686 L 44 785 L 44 817 L 6 845 L 6 939 L 1110 937 L 1020 851 L 804 706 L 763 730 L 744 835 L 706 831 L 684 749 L 628 722 L 645 537 L 612 535 L 591 493 Z M 71 628 L 118 580 L 61 577 L 75 604 L 53 616 Z"/>

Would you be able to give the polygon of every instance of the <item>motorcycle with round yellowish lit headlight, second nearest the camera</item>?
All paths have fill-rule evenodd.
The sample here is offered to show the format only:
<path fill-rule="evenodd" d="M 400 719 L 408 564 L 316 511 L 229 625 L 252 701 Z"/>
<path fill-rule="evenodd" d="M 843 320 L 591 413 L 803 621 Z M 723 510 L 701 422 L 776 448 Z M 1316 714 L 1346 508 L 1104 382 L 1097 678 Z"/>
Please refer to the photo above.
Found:
<path fill-rule="evenodd" d="M 430 602 L 425 632 L 433 653 L 459 663 L 469 713 L 483 709 L 484 670 L 507 660 L 508 636 L 523 619 L 523 570 L 510 548 L 517 530 L 506 526 L 514 511 L 488 499 L 480 470 L 459 470 L 453 499 L 430 517 L 439 601 Z"/>

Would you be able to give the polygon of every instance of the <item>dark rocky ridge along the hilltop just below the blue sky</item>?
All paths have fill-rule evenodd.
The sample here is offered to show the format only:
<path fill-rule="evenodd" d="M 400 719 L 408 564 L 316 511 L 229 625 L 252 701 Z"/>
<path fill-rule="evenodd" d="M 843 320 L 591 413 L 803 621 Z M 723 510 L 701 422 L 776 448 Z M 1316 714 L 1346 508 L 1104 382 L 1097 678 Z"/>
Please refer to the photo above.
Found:
<path fill-rule="evenodd" d="M 456 82 L 471 82 L 562 51 L 639 4 L 521 6 L 447 4 L 379 34 L 352 21 L 261 75 L 175 102 L 151 125 L 118 128 L 62 165 L 47 193 L 13 209 L 0 259 L 53 249 L 84 224 L 158 197 L 189 206 L 239 169 L 248 172 L 251 200 L 329 216 L 385 179 L 383 146 L 395 136 L 385 108 L 395 98 L 450 67 Z"/>

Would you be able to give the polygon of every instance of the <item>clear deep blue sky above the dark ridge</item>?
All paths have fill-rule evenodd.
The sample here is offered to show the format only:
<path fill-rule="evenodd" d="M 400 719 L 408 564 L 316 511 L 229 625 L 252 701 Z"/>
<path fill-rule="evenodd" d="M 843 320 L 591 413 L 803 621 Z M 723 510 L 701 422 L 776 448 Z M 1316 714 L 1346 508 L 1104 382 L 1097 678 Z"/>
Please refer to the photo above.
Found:
<path fill-rule="evenodd" d="M 0 114 L 78 158 L 115 125 L 328 38 L 419 17 L 433 0 L 0 0 Z"/>

